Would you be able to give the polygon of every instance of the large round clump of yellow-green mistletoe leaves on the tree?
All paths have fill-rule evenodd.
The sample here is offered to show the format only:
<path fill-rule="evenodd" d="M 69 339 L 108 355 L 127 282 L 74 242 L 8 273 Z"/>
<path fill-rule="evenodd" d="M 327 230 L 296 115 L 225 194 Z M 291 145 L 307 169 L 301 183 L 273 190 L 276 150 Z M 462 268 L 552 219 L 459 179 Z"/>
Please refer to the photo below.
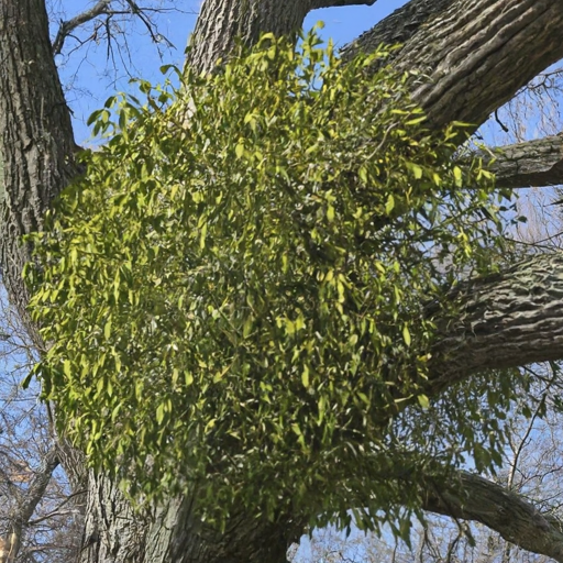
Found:
<path fill-rule="evenodd" d="M 400 431 L 429 412 L 423 303 L 490 268 L 509 192 L 452 164 L 460 126 L 423 129 L 387 53 L 265 36 L 92 115 L 109 141 L 34 238 L 36 373 L 132 494 L 374 526 L 416 507 L 438 450 L 455 461 Z"/>

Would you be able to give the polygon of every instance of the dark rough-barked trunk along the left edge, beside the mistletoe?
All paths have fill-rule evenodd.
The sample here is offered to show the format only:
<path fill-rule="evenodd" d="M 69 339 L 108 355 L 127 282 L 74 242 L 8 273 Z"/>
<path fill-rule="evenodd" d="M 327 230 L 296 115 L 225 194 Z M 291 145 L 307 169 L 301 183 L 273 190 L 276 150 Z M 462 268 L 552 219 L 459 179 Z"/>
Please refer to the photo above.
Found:
<path fill-rule="evenodd" d="M 77 173 L 70 114 L 52 56 L 43 0 L 0 0 L 0 202 L 2 279 L 30 335 L 22 269 L 31 249 L 22 236 L 41 230 L 52 199 Z"/>

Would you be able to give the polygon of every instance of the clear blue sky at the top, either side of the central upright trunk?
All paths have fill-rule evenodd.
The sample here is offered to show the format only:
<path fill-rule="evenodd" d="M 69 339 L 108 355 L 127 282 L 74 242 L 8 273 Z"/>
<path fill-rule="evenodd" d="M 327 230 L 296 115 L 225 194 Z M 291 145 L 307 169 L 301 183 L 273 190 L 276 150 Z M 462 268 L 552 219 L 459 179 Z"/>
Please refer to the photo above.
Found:
<path fill-rule="evenodd" d="M 405 3 L 406 0 L 378 0 L 372 7 L 314 10 L 306 19 L 303 26 L 310 29 L 322 20 L 325 23 L 323 37 L 332 37 L 336 46 L 343 46 Z M 52 21 L 68 20 L 91 4 L 92 2 L 87 0 L 63 0 L 57 4 L 59 11 L 52 13 Z M 177 4 L 181 5 L 181 12 L 164 13 L 157 19 L 158 30 L 174 45 L 173 48 L 159 45 L 162 58 L 157 46 L 151 43 L 146 30 L 139 23 L 128 24 L 123 29 L 128 37 L 129 52 L 114 52 L 115 66 L 111 60 L 108 62 L 106 42 L 96 44 L 95 41 L 89 41 L 85 46 L 77 48 L 77 42 L 68 40 L 63 55 L 57 56 L 56 62 L 67 89 L 68 103 L 74 112 L 78 143 L 86 144 L 90 137 L 90 132 L 85 125 L 88 115 L 103 106 L 106 99 L 115 91 L 128 90 L 131 77 L 159 82 L 163 77 L 158 69 L 163 64 L 181 66 L 188 36 L 196 23 L 199 1 L 178 1 Z M 52 34 L 56 31 L 55 24 Z M 76 35 L 85 40 L 90 33 L 91 29 L 86 27 Z M 130 58 L 129 70 L 121 63 L 121 57 Z"/>

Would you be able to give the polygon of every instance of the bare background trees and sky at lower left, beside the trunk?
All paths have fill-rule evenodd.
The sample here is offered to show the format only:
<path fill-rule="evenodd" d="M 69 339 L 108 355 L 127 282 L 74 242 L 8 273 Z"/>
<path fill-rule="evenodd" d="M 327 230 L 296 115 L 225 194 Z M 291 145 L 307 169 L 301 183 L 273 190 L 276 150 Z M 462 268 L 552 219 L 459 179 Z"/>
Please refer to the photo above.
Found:
<path fill-rule="evenodd" d="M 60 468 L 53 441 L 53 420 L 46 404 L 37 401 L 35 386 L 21 388 L 21 379 L 34 363 L 34 351 L 2 299 L 0 378 L 0 526 L 3 553 L 19 553 L 19 561 L 70 562 L 80 542 L 80 497 Z M 84 490 L 81 493 L 84 497 Z M 21 530 L 25 534 L 21 537 Z M 20 538 L 15 543 L 12 539 Z M 8 559 L 8 561 L 11 561 Z"/>

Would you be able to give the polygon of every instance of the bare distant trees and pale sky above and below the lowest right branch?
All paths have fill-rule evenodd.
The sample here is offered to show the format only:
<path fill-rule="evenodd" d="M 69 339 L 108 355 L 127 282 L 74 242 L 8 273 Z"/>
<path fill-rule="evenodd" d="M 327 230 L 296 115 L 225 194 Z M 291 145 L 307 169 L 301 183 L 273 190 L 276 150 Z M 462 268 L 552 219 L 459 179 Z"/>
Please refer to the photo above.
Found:
<path fill-rule="evenodd" d="M 519 495 L 542 499 L 542 509 L 555 515 L 561 514 L 561 416 L 559 412 L 539 416 L 544 401 L 552 400 L 553 386 L 559 385 L 558 375 L 551 367 L 536 366 L 538 380 L 533 393 L 540 399 L 538 408 L 528 418 L 510 419 L 509 444 L 501 467 L 492 478 Z M 297 552 L 291 561 L 543 563 L 550 561 L 550 558 L 523 551 L 479 522 L 431 516 L 423 527 L 417 527 L 410 547 L 401 541 L 394 542 L 388 538 L 361 532 L 346 537 L 329 528 L 316 531 L 306 549 Z"/>

